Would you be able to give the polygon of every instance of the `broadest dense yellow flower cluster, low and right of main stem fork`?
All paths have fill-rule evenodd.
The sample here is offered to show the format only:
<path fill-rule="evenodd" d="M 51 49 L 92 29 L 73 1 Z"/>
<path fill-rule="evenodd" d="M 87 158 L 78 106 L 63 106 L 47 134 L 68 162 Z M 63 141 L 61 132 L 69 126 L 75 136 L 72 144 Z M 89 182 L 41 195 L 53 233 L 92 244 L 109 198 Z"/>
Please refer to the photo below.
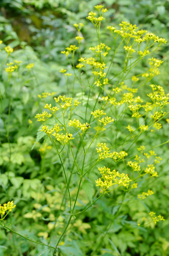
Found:
<path fill-rule="evenodd" d="M 96 186 L 101 187 L 103 191 L 106 191 L 109 187 L 118 184 L 119 186 L 127 187 L 130 184 L 130 178 L 127 174 L 120 174 L 118 171 L 113 170 L 110 171 L 110 168 L 106 168 L 105 166 L 102 168 L 98 168 L 102 177 L 96 180 Z"/>

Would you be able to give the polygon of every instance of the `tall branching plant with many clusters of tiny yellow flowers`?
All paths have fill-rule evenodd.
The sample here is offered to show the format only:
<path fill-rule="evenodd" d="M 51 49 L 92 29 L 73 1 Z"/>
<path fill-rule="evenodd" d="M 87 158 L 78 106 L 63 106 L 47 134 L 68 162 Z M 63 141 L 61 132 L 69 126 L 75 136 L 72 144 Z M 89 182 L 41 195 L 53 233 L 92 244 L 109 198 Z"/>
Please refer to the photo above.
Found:
<path fill-rule="evenodd" d="M 115 190 L 119 190 L 122 199 L 115 213 L 118 216 L 130 193 L 137 194 L 137 200 L 153 195 L 151 189 L 139 193 L 145 180 L 158 178 L 158 163 L 161 158 L 152 150 L 157 145 L 147 148 L 139 145 L 139 139 L 142 142 L 145 137 L 159 131 L 162 128 L 160 121 L 169 113 L 169 93 L 166 94 L 161 85 L 149 84 L 160 73 L 158 68 L 163 61 L 148 58 L 149 68 L 141 73 L 135 67 L 161 44 L 166 44 L 166 40 L 146 30 L 139 30 L 135 24 L 122 21 L 119 29 L 107 26 L 106 34 L 112 36 L 113 43 L 106 46 L 101 42 L 100 36 L 104 13 L 107 12 L 103 7 L 95 6 L 98 15 L 96 12 L 89 12 L 87 17 L 94 25 L 98 37 L 98 44 L 89 48 L 90 55 L 83 56 L 84 53 L 81 52 L 83 23 L 74 24 L 78 46 L 71 44 L 61 52 L 71 69 L 71 73 L 66 73 L 64 68 L 60 70 L 65 76 L 67 95 L 57 95 L 56 92 L 38 95 L 40 99 L 46 98 L 48 101 L 44 105 L 45 110 L 35 116 L 41 123 L 39 138 L 45 138 L 44 142 L 47 138 L 50 143 L 50 146 L 44 144 L 40 149 L 41 157 L 44 159 L 44 152 L 53 146 L 65 178 L 59 209 L 54 208 L 57 212 L 48 218 L 48 230 L 43 232 L 46 239 L 49 236 L 49 243 L 36 242 L 51 247 L 53 256 L 64 253 L 62 246 L 67 242 L 64 236 L 69 237 L 71 225 L 80 225 L 80 220 L 74 222 L 74 219 L 90 207 L 95 207 L 100 198 L 113 197 Z M 12 53 L 9 47 L 5 50 L 8 54 Z M 113 67 L 119 51 L 124 54 L 124 64 L 121 71 L 116 73 Z M 9 78 L 17 69 L 17 64 L 12 66 L 13 64 L 9 63 L 6 68 Z M 33 64 L 26 68 L 29 71 Z M 150 87 L 150 92 L 145 97 L 139 94 L 143 87 Z M 53 102 L 51 96 L 56 96 Z M 168 140 L 163 144 L 167 142 Z M 133 148 L 137 148 L 137 152 L 133 152 Z M 72 193 L 73 182 L 78 182 L 75 195 Z M 90 191 L 88 186 L 92 187 Z M 86 192 L 88 201 L 79 206 L 81 191 L 82 194 Z M 54 207 L 53 202 L 49 205 Z M 36 207 L 41 209 L 41 206 Z M 62 215 L 65 223 L 60 221 L 58 224 Z M 164 221 L 163 216 L 154 215 L 154 212 L 150 212 L 147 217 L 138 218 L 133 228 L 139 229 L 151 222 L 156 224 Z M 25 215 L 25 218 L 29 217 L 36 219 L 41 217 L 41 213 L 35 211 Z M 57 227 L 55 238 L 52 235 Z M 86 227 L 88 228 L 91 227 Z"/>

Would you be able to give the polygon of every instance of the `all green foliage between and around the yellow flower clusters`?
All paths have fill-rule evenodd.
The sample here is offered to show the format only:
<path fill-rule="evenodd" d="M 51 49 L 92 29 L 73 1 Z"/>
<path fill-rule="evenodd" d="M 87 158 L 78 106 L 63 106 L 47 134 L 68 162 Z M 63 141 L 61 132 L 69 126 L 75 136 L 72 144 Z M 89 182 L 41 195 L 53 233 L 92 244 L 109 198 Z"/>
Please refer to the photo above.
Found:
<path fill-rule="evenodd" d="M 104 3 L 103 5 L 109 11 L 105 12 L 105 20 L 100 26 L 100 40 L 101 43 L 111 47 L 111 53 L 105 57 L 106 66 L 110 66 L 114 49 L 116 49 L 114 47 L 118 47 L 122 41 L 118 36 L 115 46 L 114 38 L 106 29 L 107 26 L 117 27 L 117 24 L 124 20 L 139 25 L 139 30 L 145 29 L 159 37 L 168 38 L 168 1 L 105 0 Z M 2 256 L 53 256 L 57 244 L 57 256 L 167 256 L 169 254 L 168 105 L 164 105 L 162 110 L 166 113 L 160 118 L 161 129 L 153 128 L 157 123 L 154 120 L 152 126 L 148 127 L 148 131 L 140 132 L 139 126 L 141 124 L 149 126 L 152 120 L 150 115 L 154 112 L 151 111 L 148 117 L 142 116 L 137 120 L 132 117 L 133 107 L 127 108 L 128 103 L 108 107 L 106 101 L 101 100 L 103 96 L 110 96 L 113 87 L 121 88 L 122 84 L 119 85 L 119 83 L 123 81 L 128 88 L 141 87 L 138 93 L 134 93 L 136 94 L 134 97 L 140 96 L 144 103 L 151 101 L 147 96 L 152 93 L 150 84 L 164 87 L 167 94 L 168 43 L 162 44 L 158 49 L 156 49 L 159 46 L 158 43 L 149 48 L 150 52 L 155 49 L 156 51 L 148 58 L 164 60 L 159 67 L 161 74 L 152 76 L 150 81 L 140 76 L 149 70 L 147 56 L 140 58 L 136 67 L 129 68 L 129 73 L 124 71 L 127 65 L 137 59 L 138 49 L 135 44 L 133 49 L 136 52 L 129 54 L 131 62 L 128 62 L 123 48 L 125 44 L 122 42 L 109 69 L 107 76 L 109 84 L 104 87 L 105 90 L 101 91 L 101 87 L 94 85 L 98 79 L 92 80 L 92 66 L 86 65 L 85 69 L 83 66 L 79 71 L 74 67 L 79 63 L 79 49 L 74 52 L 73 60 L 69 58 L 70 55 L 68 61 L 63 54 L 60 54 L 71 44 L 79 47 L 75 40 L 79 35 L 84 38 L 80 43 L 81 57 L 86 59 L 95 57 L 89 47 L 99 44 L 98 37 L 95 27 L 86 20 L 86 17 L 97 4 L 98 1 L 94 0 L 76 2 L 3 0 L 0 3 L 2 14 L 0 36 L 3 40 L 0 45 L 0 63 L 2 64 L 0 69 L 0 203 L 3 205 L 14 201 L 16 204 L 15 209 L 9 212 L 6 219 L 1 222 L 1 225 L 5 224 L 0 227 L 0 255 Z M 74 23 L 79 22 L 84 23 L 80 33 L 73 26 Z M 4 50 L 6 45 L 13 47 L 14 52 L 8 55 Z M 140 50 L 143 51 L 145 47 L 146 44 L 143 42 Z M 97 58 L 98 62 L 101 61 L 100 56 Z M 15 60 L 22 63 L 17 64 Z M 6 64 L 10 62 L 14 62 L 11 66 L 19 65 L 11 75 L 5 71 L 8 67 Z M 26 68 L 31 63 L 34 63 L 34 66 L 30 69 Z M 61 69 L 66 69 L 66 73 L 72 73 L 72 76 L 59 72 Z M 104 69 L 104 72 L 107 72 L 107 69 Z M 123 74 L 122 77 L 118 75 L 120 72 Z M 131 77 L 134 75 L 140 80 L 132 81 Z M 103 83 L 103 79 L 100 81 Z M 51 94 L 45 98 L 43 93 L 47 92 Z M 116 101 L 119 102 L 123 94 L 124 91 L 115 94 Z M 64 108 L 56 102 L 57 107 L 60 107 L 60 110 L 56 111 L 57 121 L 52 116 L 43 125 L 51 129 L 57 123 L 63 129 L 59 134 L 65 134 L 65 130 L 68 134 L 72 134 L 74 139 L 68 142 L 69 145 L 68 143 L 63 145 L 64 143 L 57 140 L 53 142 L 51 138 L 54 137 L 48 136 L 42 125 L 39 126 L 34 119 L 37 113 L 50 111 L 44 108 L 45 104 L 55 106 L 53 96 L 57 98 L 59 95 L 72 96 L 73 103 L 74 100 L 78 100 L 81 104 L 74 110 L 66 110 L 63 115 L 61 109 L 64 110 Z M 131 102 L 130 105 L 132 105 Z M 104 123 L 99 121 L 97 123 L 91 115 L 91 111 L 98 108 L 106 112 L 102 117 L 111 116 L 114 119 L 112 123 L 103 127 L 107 130 L 102 129 L 99 133 L 94 127 L 99 127 L 98 123 L 104 126 Z M 144 114 L 143 108 L 139 113 Z M 64 125 L 63 116 L 65 120 L 68 119 L 66 125 Z M 75 125 L 69 126 L 69 119 L 79 119 L 81 125 L 78 128 Z M 80 130 L 84 127 L 86 129 L 86 124 L 90 127 L 85 131 Z M 132 131 L 126 129 L 128 125 L 134 129 L 134 135 Z M 151 129 L 154 129 L 154 132 L 150 132 Z M 112 154 L 125 151 L 128 155 L 117 162 L 114 161 L 114 156 L 100 162 L 96 148 L 98 148 L 97 143 L 101 142 L 106 143 Z M 142 145 L 146 147 L 143 153 L 152 154 L 151 157 L 137 150 Z M 84 159 L 83 154 L 86 150 L 88 152 Z M 150 153 L 150 150 L 155 153 Z M 143 177 L 138 176 L 137 188 L 131 189 L 130 185 L 128 188 L 121 186 L 116 189 L 117 185 L 115 185 L 102 192 L 104 194 L 102 196 L 100 187 L 95 183 L 98 178 L 101 178 L 98 168 L 110 167 L 111 171 L 116 169 L 120 174 L 124 173 L 131 179 L 133 177 L 137 179 L 136 172 L 133 172 L 132 177 L 132 168 L 130 163 L 128 165 L 127 163 L 136 162 L 134 158 L 138 155 L 145 160 L 145 163 L 140 163 L 144 170 L 147 164 L 152 165 L 157 159 L 154 154 L 162 158 L 159 163 L 157 162 L 155 169 L 158 177 L 149 179 L 145 176 L 144 180 Z M 68 182 L 65 182 L 65 177 Z M 79 182 L 81 187 L 78 191 Z M 137 197 L 142 192 L 148 192 L 148 189 L 154 194 L 144 200 Z M 159 221 L 155 225 L 149 215 L 151 211 L 156 212 L 156 216 L 164 216 L 165 221 Z M 70 212 L 72 215 L 69 219 Z M 61 237 L 67 223 L 68 229 Z"/>

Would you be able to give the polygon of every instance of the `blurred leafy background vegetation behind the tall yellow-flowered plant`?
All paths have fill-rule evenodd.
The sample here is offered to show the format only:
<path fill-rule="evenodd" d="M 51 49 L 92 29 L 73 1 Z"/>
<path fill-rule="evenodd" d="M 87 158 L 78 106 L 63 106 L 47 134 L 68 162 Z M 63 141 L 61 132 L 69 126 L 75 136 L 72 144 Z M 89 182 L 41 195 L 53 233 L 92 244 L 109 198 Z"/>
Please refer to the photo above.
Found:
<path fill-rule="evenodd" d="M 106 0 L 101 3 L 96 0 L 2 0 L 0 3 L 0 40 L 3 41 L 0 49 L 6 45 L 14 48 L 8 63 L 15 59 L 22 61 L 17 76 L 14 75 L 10 80 L 11 88 L 15 85 L 14 90 L 6 91 L 6 98 L 1 107 L 4 115 L 8 116 L 9 100 L 12 97 L 11 116 L 8 122 L 11 157 L 9 157 L 8 140 L 4 136 L 3 121 L 0 119 L 0 203 L 14 200 L 17 207 L 7 219 L 11 229 L 35 241 L 38 241 L 37 236 L 39 236 L 39 241 L 43 243 L 46 243 L 46 239 L 55 241 L 57 234 L 63 228 L 68 209 L 64 209 L 57 219 L 56 228 L 53 229 L 54 215 L 60 208 L 65 183 L 62 167 L 54 149 L 42 150 L 45 143 L 47 143 L 46 147 L 50 147 L 49 141 L 41 137 L 34 144 L 39 128 L 39 123 L 34 117 L 36 113 L 42 111 L 46 103 L 46 99 L 38 98 L 38 94 L 44 92 L 56 92 L 57 96 L 67 94 L 65 79 L 59 71 L 65 67 L 69 71 L 70 66 L 60 52 L 70 44 L 76 44 L 74 38 L 77 31 L 73 24 L 83 22 L 84 40 L 81 43 L 81 52 L 89 56 L 88 49 L 97 45 L 97 37 L 94 37 L 94 28 L 86 17 L 97 4 L 103 4 L 109 10 L 105 14 L 105 27 L 108 25 L 116 27 L 124 20 L 137 24 L 139 29 L 146 29 L 166 40 L 169 38 L 168 0 Z M 106 45 L 111 44 L 111 39 L 106 33 L 102 34 L 102 40 Z M 112 73 L 121 70 L 122 54 L 119 52 L 116 56 Z M 5 57 L 6 53 L 2 50 L 0 63 Z M 168 93 L 169 43 L 161 46 L 153 57 L 162 59 L 164 63 L 160 66 L 161 74 L 153 78 L 152 82 L 163 86 Z M 29 63 L 34 63 L 34 67 L 27 72 L 26 66 Z M 147 62 L 142 60 L 136 72 L 139 73 L 146 66 Z M 6 63 L 0 70 L 2 92 L 5 91 L 8 83 L 5 67 Z M 146 90 L 149 93 L 149 88 L 146 87 L 140 96 L 146 95 Z M 78 93 L 78 85 L 75 84 L 74 94 Z M 88 91 L 84 95 L 84 102 L 87 94 Z M 92 97 L 94 98 L 96 94 L 97 91 L 94 91 Z M 83 112 L 82 109 L 80 111 Z M 77 113 L 79 116 L 80 111 Z M 145 146 L 153 147 L 168 140 L 169 124 L 166 118 L 169 117 L 164 117 L 161 121 L 163 129 L 148 137 L 144 142 Z M 104 139 L 110 140 L 105 134 Z M 137 142 L 137 146 L 140 145 L 142 140 Z M 122 190 L 115 192 L 113 198 L 109 196 L 101 198 L 92 209 L 84 212 L 74 224 L 72 223 L 71 236 L 65 239 L 66 242 L 62 246 L 65 253 L 63 255 L 169 255 L 168 144 L 156 148 L 155 153 L 162 158 L 158 165 L 159 177 L 144 183 L 145 190 L 152 189 L 154 195 L 139 201 L 137 194 L 140 191 L 138 191 L 133 200 L 135 193 L 133 190 L 132 197 L 129 196 L 126 201 L 124 200 L 120 208 Z M 69 161 L 65 162 L 65 165 L 69 171 Z M 97 179 L 95 173 L 92 178 Z M 74 179 L 72 195 L 76 193 L 76 183 L 77 180 Z M 141 189 L 143 191 L 143 187 Z M 95 193 L 97 193 L 95 184 L 86 180 L 78 200 L 79 209 L 88 204 Z M 136 228 L 138 220 L 151 210 L 163 215 L 166 220 L 157 223 L 156 226 L 151 223 Z M 1 256 L 38 256 L 42 255 L 41 251 L 45 256 L 51 255 L 43 245 L 33 244 L 1 227 Z"/>

